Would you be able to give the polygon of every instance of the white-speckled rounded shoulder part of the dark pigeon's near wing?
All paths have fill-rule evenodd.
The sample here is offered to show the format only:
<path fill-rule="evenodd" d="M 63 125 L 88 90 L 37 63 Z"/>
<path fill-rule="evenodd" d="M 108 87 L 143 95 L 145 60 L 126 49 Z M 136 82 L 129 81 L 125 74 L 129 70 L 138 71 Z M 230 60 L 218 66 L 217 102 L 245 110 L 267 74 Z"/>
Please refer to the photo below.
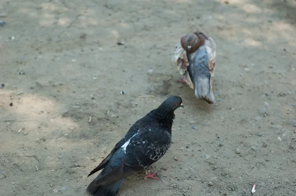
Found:
<path fill-rule="evenodd" d="M 134 170 L 146 168 L 158 161 L 171 145 L 169 132 L 156 126 L 154 128 L 150 126 L 145 130 L 140 130 L 126 148 L 123 163 Z"/>

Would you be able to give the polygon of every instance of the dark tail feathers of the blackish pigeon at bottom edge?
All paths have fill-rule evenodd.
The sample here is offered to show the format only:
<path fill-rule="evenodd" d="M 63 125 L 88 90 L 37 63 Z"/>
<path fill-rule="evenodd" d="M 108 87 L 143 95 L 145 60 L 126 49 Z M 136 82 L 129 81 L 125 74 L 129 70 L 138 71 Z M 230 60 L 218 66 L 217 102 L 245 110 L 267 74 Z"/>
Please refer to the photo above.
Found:
<path fill-rule="evenodd" d="M 94 196 L 117 196 L 118 191 L 125 178 L 121 178 L 117 182 L 111 183 L 109 185 L 100 186 L 95 192 Z"/>

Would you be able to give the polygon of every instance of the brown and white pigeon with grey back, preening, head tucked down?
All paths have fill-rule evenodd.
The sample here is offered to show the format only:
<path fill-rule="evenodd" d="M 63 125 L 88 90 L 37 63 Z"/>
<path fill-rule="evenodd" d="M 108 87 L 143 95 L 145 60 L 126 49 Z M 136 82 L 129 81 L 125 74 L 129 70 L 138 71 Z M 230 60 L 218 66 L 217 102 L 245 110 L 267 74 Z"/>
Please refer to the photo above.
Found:
<path fill-rule="evenodd" d="M 216 64 L 214 39 L 201 32 L 182 36 L 176 44 L 172 61 L 183 75 L 182 80 L 178 81 L 186 83 L 191 89 L 195 86 L 195 96 L 213 104 L 212 77 Z"/>

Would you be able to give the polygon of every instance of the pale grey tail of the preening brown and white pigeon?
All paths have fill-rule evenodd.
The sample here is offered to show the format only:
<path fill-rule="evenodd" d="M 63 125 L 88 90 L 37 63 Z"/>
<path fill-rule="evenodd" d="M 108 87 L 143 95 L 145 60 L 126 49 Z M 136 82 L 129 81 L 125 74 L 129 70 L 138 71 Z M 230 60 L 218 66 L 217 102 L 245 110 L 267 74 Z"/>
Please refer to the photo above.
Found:
<path fill-rule="evenodd" d="M 195 81 L 195 96 L 208 103 L 214 103 L 215 97 L 212 91 L 211 77 L 197 77 Z"/>

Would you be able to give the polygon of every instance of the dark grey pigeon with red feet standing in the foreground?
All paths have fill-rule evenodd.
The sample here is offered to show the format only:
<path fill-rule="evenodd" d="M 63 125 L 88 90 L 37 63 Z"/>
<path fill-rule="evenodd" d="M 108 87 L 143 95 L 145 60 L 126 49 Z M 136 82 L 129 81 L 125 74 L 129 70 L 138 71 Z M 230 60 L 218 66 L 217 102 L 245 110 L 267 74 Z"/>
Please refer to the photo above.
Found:
<path fill-rule="evenodd" d="M 127 176 L 158 161 L 171 145 L 174 111 L 179 107 L 184 107 L 182 98 L 171 96 L 136 121 L 102 163 L 90 172 L 88 176 L 103 169 L 87 191 L 94 196 L 116 196 Z M 145 179 L 158 179 L 154 177 L 156 173 L 148 171 Z"/>

